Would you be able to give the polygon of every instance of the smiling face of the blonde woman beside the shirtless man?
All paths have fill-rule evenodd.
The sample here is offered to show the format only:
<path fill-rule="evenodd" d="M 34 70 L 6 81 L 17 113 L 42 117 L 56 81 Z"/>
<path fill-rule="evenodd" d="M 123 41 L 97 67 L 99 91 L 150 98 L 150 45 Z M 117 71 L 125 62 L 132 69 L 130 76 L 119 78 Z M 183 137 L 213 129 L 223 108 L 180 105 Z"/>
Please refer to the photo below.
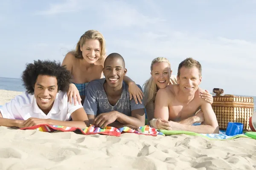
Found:
<path fill-rule="evenodd" d="M 172 70 L 167 62 L 154 63 L 151 75 L 158 88 L 165 88 L 169 84 L 171 74 Z"/>

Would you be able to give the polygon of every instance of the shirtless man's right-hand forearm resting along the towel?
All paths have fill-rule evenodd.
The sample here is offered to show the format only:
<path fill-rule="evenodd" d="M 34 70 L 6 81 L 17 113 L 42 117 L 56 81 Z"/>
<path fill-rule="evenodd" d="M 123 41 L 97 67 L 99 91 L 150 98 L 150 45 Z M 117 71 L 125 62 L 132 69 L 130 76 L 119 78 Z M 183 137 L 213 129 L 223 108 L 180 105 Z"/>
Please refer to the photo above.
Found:
<path fill-rule="evenodd" d="M 213 127 L 211 125 L 192 126 L 187 124 L 179 124 L 179 126 L 172 130 L 184 130 L 195 133 L 219 133 L 219 127 Z"/>

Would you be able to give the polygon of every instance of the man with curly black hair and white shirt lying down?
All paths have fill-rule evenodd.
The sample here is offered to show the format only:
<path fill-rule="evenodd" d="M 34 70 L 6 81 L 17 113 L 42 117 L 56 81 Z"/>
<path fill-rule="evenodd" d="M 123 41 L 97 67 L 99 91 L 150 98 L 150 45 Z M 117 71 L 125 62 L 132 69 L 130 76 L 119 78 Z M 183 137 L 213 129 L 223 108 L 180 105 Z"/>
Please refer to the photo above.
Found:
<path fill-rule="evenodd" d="M 27 64 L 22 74 L 26 92 L 17 95 L 0 109 L 0 126 L 89 126 L 82 105 L 68 102 L 70 79 L 71 73 L 56 61 L 38 60 Z M 73 121 L 70 121 L 71 118 Z"/>

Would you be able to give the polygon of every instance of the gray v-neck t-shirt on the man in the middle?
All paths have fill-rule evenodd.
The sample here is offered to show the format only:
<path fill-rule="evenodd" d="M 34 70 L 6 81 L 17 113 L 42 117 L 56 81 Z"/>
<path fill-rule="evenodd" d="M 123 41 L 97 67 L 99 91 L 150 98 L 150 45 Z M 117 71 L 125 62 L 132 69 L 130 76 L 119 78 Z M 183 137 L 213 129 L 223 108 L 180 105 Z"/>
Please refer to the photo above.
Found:
<path fill-rule="evenodd" d="M 131 116 L 131 111 L 135 109 L 144 109 L 144 104 L 136 104 L 134 98 L 130 100 L 130 93 L 128 91 L 128 85 L 123 81 L 123 91 L 119 100 L 115 106 L 112 106 L 107 98 L 103 84 L 105 78 L 91 81 L 86 89 L 86 95 L 84 99 L 84 110 L 88 115 L 99 115 L 100 113 L 111 112 L 116 110 L 127 116 Z M 137 86 L 141 86 L 137 84 Z M 142 101 L 143 102 L 143 101 Z"/>

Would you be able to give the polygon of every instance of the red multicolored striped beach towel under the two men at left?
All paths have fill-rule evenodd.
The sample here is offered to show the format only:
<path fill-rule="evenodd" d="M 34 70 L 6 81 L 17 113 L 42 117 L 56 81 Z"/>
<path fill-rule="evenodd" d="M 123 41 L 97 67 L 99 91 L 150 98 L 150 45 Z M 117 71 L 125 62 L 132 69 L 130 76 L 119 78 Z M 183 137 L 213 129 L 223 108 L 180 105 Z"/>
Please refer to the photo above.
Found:
<path fill-rule="evenodd" d="M 162 132 L 157 131 L 156 129 L 149 127 L 148 125 L 139 128 L 141 132 L 131 129 L 129 127 L 115 128 L 115 127 L 105 127 L 105 129 L 101 129 L 99 127 L 95 127 L 91 125 L 90 127 L 86 127 L 84 129 L 78 127 L 65 127 L 58 125 L 49 125 L 49 124 L 39 124 L 33 127 L 24 127 L 21 130 L 38 130 L 41 132 L 54 132 L 56 130 L 62 132 L 72 132 L 75 130 L 80 130 L 84 135 L 92 135 L 92 134 L 102 134 L 102 135 L 114 135 L 120 136 L 121 133 L 137 133 L 140 135 L 164 135 Z"/>

